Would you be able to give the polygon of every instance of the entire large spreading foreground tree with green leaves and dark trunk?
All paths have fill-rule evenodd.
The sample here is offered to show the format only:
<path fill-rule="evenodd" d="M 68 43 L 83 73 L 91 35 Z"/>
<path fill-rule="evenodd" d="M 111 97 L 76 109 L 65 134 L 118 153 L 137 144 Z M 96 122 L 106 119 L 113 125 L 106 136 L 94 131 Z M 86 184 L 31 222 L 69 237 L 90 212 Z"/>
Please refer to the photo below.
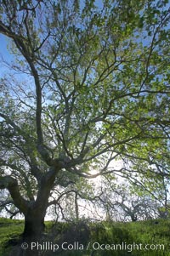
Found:
<path fill-rule="evenodd" d="M 0 0 L 15 56 L 0 83 L 0 189 L 24 241 L 42 236 L 56 186 L 168 166 L 169 19 L 167 0 Z"/>

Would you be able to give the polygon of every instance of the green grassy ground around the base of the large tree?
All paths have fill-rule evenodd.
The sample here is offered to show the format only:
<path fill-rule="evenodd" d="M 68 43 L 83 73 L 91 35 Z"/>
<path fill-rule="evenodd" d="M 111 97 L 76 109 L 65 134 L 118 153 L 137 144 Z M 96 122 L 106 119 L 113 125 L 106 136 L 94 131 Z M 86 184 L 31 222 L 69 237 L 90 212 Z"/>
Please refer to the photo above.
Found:
<path fill-rule="evenodd" d="M 0 256 L 9 255 L 23 228 L 23 220 L 0 219 Z M 48 250 L 44 253 L 48 256 L 170 256 L 170 219 L 98 224 L 48 221 L 45 237 L 44 241 L 64 247 L 55 253 Z"/>

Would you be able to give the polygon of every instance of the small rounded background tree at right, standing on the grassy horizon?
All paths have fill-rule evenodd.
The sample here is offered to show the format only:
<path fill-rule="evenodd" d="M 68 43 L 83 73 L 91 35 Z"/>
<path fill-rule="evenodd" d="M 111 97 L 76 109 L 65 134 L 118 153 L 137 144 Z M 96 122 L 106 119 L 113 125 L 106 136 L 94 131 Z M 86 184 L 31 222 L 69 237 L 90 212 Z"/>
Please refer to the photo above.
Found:
<path fill-rule="evenodd" d="M 106 185 L 99 196 L 100 207 L 104 209 L 107 220 L 137 221 L 156 219 L 159 216 L 156 198 L 149 192 L 138 193 L 125 183 Z"/>

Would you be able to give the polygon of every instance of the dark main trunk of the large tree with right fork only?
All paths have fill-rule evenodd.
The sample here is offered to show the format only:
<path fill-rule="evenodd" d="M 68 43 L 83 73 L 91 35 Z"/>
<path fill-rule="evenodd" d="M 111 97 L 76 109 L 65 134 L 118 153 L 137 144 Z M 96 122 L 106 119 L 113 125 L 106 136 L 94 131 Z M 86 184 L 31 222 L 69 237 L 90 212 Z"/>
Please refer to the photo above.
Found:
<path fill-rule="evenodd" d="M 40 188 L 37 192 L 37 200 L 30 202 L 29 208 L 25 213 L 25 229 L 22 243 L 26 243 L 28 247 L 24 252 L 21 249 L 22 253 L 20 256 L 39 256 L 44 253 L 44 218 L 48 208 L 50 191 L 54 185 L 54 179 L 58 171 L 58 169 L 52 168 L 48 174 L 42 177 Z"/>

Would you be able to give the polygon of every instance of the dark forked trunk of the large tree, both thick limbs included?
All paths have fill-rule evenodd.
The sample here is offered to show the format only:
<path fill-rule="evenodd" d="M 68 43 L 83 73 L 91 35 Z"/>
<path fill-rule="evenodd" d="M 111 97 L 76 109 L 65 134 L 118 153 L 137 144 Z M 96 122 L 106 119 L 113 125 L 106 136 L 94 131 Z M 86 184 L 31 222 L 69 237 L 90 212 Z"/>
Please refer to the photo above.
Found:
<path fill-rule="evenodd" d="M 39 256 L 44 254 L 44 248 L 43 246 L 41 247 L 41 244 L 43 245 L 43 242 L 45 242 L 43 241 L 44 218 L 48 208 L 50 191 L 54 186 L 54 180 L 58 172 L 59 167 L 50 168 L 48 173 L 42 176 L 36 201 L 26 201 L 20 195 L 20 187 L 16 179 L 10 176 L 0 178 L 0 189 L 8 189 L 13 198 L 14 205 L 25 215 L 25 229 L 22 241 L 17 246 L 18 253 L 16 253 L 16 247 L 14 247 L 10 255 Z M 32 245 L 33 243 L 34 246 Z"/>

